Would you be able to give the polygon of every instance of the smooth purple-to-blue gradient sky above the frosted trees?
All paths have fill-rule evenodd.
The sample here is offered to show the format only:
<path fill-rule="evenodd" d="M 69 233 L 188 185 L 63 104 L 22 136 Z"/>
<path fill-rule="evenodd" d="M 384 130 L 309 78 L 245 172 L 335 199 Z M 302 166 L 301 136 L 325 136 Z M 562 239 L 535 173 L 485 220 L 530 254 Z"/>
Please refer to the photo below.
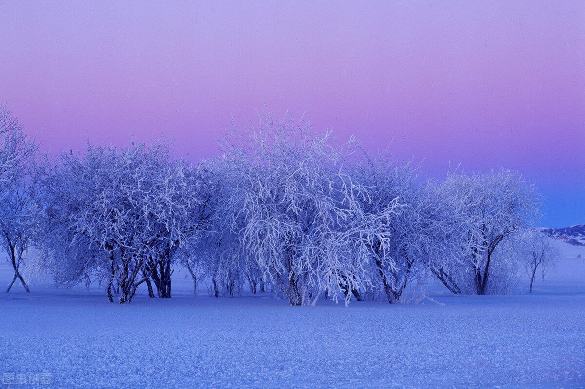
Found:
<path fill-rule="evenodd" d="M 443 177 L 522 172 L 550 227 L 585 223 L 585 2 L 0 1 L 0 102 L 44 150 L 306 111 Z"/>

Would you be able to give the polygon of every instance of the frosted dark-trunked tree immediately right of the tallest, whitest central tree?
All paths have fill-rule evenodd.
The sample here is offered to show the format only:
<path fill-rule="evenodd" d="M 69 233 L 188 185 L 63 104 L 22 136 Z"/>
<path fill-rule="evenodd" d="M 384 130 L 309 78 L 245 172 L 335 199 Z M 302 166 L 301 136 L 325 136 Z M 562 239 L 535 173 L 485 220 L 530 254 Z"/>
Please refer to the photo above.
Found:
<path fill-rule="evenodd" d="M 390 304 L 398 303 L 417 271 L 424 234 L 418 223 L 424 202 L 417 173 L 411 164 L 397 164 L 384 153 L 376 159 L 363 154 L 353 176 L 367 188 L 362 214 L 350 227 L 359 256 L 371 268 L 371 284 L 364 284 L 360 297 L 383 296 Z M 358 296 L 357 291 L 353 294 Z"/>

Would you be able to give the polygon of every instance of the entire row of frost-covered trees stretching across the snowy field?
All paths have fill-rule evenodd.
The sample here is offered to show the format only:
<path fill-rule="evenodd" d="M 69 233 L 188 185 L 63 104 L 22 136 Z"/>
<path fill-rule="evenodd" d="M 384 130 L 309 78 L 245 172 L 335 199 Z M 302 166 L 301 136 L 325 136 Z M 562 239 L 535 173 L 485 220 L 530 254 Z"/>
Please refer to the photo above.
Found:
<path fill-rule="evenodd" d="M 453 293 L 502 293 L 518 259 L 534 280 L 554 254 L 533 229 L 540 200 L 519 173 L 422 180 L 411 164 L 371 158 L 353 138 L 338 145 L 290 114 L 233 126 L 223 155 L 197 166 L 163 141 L 88 145 L 51 165 L 6 107 L 0 120 L 0 243 L 12 283 L 26 288 L 19 266 L 31 246 L 58 285 L 98 281 L 122 304 L 143 283 L 170 297 L 177 266 L 194 290 L 202 277 L 216 297 L 248 283 L 291 305 L 398 303 L 429 277 Z"/>

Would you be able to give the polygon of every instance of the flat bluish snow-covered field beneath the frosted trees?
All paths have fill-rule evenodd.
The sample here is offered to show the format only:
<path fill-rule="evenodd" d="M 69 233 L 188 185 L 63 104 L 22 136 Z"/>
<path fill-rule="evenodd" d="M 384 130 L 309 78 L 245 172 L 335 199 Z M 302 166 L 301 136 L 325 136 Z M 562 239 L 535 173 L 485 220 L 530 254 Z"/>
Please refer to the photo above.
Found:
<path fill-rule="evenodd" d="M 514 296 L 429 287 L 445 305 L 195 297 L 184 273 L 170 300 L 126 305 L 17 283 L 0 292 L 0 387 L 583 388 L 585 248 L 555 244 L 532 294 L 527 278 Z M 11 276 L 2 262 L 2 288 Z"/>

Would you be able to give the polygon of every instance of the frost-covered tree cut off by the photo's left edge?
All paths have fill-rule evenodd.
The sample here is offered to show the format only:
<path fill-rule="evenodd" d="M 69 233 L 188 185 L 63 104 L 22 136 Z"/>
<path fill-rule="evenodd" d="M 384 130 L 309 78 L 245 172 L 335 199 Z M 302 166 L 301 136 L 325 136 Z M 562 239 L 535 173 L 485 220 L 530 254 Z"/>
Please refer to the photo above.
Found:
<path fill-rule="evenodd" d="M 7 291 L 17 278 L 30 291 L 20 266 L 44 217 L 39 203 L 44 165 L 39 162 L 38 150 L 12 112 L 0 106 L 0 244 L 14 270 Z"/>

